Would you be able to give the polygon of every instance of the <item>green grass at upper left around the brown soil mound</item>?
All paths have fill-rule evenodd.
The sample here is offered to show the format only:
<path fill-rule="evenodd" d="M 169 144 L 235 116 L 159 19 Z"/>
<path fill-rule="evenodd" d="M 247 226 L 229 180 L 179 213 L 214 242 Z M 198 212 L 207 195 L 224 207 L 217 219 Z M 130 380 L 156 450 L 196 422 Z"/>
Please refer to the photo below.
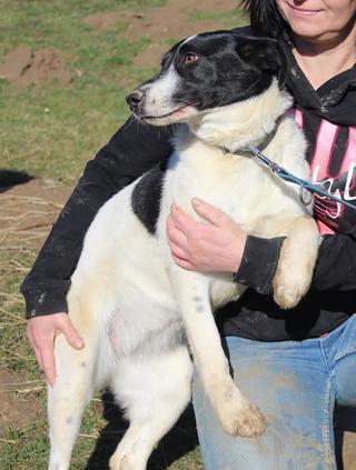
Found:
<path fill-rule="evenodd" d="M 85 161 L 125 122 L 128 89 L 122 83 L 141 79 L 141 71 L 130 66 L 148 41 L 125 39 L 125 23 L 92 31 L 82 19 L 96 11 L 127 9 L 128 4 L 0 1 L 6 12 L 0 19 L 2 56 L 19 44 L 33 50 L 52 47 L 69 54 L 67 66 L 73 72 L 66 88 L 46 84 L 19 90 L 0 81 L 2 166 L 72 182 Z"/>

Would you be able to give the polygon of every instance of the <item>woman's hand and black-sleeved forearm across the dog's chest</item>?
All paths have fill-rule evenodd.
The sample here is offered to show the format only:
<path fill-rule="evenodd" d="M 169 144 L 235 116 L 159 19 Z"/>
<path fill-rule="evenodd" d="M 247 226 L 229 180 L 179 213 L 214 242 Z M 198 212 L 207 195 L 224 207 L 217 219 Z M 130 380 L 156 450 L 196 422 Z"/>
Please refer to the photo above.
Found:
<path fill-rule="evenodd" d="M 200 201 L 194 208 L 209 223 L 191 219 L 179 208 L 172 208 L 167 222 L 176 263 L 195 271 L 231 272 L 236 282 L 270 294 L 284 238 L 246 237 L 227 214 L 214 206 Z M 356 228 L 324 238 L 312 289 L 356 289 Z"/>

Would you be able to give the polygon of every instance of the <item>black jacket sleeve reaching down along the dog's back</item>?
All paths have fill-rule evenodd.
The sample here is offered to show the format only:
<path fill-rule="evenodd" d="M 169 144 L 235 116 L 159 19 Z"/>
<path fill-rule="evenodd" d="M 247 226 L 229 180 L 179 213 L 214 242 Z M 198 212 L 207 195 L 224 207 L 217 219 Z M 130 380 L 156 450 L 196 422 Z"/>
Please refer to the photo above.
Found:
<path fill-rule="evenodd" d="M 66 296 L 85 234 L 100 207 L 171 152 L 172 127 L 157 129 L 130 118 L 85 172 L 20 288 L 27 318 L 67 312 Z"/>

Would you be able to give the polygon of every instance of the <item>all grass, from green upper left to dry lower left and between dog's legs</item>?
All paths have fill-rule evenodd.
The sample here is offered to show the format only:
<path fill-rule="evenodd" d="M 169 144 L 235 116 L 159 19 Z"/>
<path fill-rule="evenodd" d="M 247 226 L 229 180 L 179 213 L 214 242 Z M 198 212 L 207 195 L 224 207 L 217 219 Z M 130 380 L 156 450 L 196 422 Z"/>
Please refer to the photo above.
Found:
<path fill-rule="evenodd" d="M 127 22 L 92 30 L 82 19 L 120 9 L 141 12 L 165 3 L 166 0 L 0 0 L 0 64 L 6 53 L 20 44 L 33 50 L 51 47 L 67 54 L 67 66 L 73 74 L 65 88 L 49 83 L 21 89 L 0 78 L 0 170 L 21 171 L 63 184 L 78 179 L 85 162 L 127 119 L 127 91 L 155 69 L 135 66 L 135 56 L 151 40 L 128 40 Z M 243 21 L 238 11 L 218 14 L 197 9 L 192 17 L 195 21 L 221 20 L 227 28 Z M 180 38 L 169 38 L 167 47 L 177 39 Z M 6 226 L 1 229 L 3 233 Z M 21 377 L 27 383 L 26 393 L 38 398 L 44 409 L 44 382 L 26 340 L 23 299 L 18 291 L 38 247 L 29 248 L 21 239 L 12 240 L 11 246 L 7 246 L 6 238 L 0 241 L 0 367 Z M 14 393 L 20 397 L 24 392 Z M 88 407 L 80 432 L 71 468 L 105 468 L 100 453 L 92 458 L 97 437 L 101 436 L 103 448 L 112 450 L 119 434 L 102 416 L 100 396 Z M 159 446 L 151 468 L 201 469 L 195 443 L 194 422 L 186 417 Z M 87 467 L 90 456 L 92 463 Z M 41 470 L 47 458 L 44 413 L 31 426 L 0 430 L 1 470 Z"/>

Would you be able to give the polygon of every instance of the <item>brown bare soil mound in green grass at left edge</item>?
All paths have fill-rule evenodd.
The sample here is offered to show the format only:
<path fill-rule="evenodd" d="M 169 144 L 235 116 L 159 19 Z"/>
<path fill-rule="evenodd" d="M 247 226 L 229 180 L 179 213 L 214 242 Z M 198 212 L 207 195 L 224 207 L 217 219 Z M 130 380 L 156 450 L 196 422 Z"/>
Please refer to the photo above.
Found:
<path fill-rule="evenodd" d="M 18 87 L 57 82 L 66 86 L 71 81 L 71 72 L 66 69 L 68 54 L 52 48 L 32 51 L 28 46 L 19 46 L 4 57 L 0 66 L 0 77 Z"/>

